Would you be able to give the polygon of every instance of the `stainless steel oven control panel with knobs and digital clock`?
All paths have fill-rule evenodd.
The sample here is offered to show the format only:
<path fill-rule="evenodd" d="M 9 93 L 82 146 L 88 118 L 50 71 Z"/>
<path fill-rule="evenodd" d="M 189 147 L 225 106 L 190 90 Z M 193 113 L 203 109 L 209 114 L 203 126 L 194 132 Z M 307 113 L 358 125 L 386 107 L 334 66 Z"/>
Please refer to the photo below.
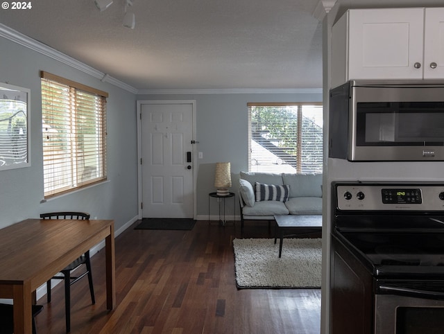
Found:
<path fill-rule="evenodd" d="M 384 184 L 333 182 L 336 208 L 340 210 L 444 210 L 444 183 Z"/>

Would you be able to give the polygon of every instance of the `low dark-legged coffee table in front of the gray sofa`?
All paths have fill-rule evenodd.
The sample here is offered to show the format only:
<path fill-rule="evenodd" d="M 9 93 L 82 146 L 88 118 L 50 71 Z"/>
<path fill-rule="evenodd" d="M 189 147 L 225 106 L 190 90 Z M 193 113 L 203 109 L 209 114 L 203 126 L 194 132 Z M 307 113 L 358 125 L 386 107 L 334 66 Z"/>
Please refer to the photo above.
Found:
<path fill-rule="evenodd" d="M 275 243 L 279 232 L 279 257 L 282 255 L 282 241 L 289 236 L 302 236 L 322 231 L 322 216 L 274 216 L 276 221 Z M 285 234 L 287 233 L 287 234 Z"/>

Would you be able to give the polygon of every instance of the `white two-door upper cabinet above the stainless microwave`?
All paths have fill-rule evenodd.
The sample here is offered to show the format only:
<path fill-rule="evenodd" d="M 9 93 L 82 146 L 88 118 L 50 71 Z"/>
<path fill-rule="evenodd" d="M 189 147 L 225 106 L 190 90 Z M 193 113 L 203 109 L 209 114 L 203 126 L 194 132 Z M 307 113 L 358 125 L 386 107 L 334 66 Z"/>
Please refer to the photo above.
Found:
<path fill-rule="evenodd" d="M 444 78 L 444 8 L 348 10 L 332 29 L 332 87 Z"/>

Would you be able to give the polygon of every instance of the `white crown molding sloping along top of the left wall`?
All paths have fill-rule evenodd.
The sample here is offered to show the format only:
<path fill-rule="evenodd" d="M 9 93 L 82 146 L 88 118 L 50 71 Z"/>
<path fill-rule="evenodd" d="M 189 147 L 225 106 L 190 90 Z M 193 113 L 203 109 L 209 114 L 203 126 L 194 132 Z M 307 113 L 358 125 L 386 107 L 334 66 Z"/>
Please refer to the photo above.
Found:
<path fill-rule="evenodd" d="M 98 71 L 88 66 L 87 64 L 84 64 L 83 62 L 79 62 L 78 60 L 69 57 L 69 55 L 65 55 L 65 53 L 61 53 L 60 51 L 51 48 L 51 46 L 47 46 L 41 42 L 38 42 L 31 37 L 19 33 L 17 30 L 5 26 L 4 24 L 0 24 L 0 37 L 9 39 L 11 42 L 15 42 L 17 44 L 25 46 L 26 48 L 33 51 L 37 51 L 38 53 L 46 55 L 53 60 L 57 60 L 58 62 L 67 64 L 68 66 L 83 71 L 103 82 L 108 82 L 111 85 L 117 86 L 121 89 L 125 89 L 126 91 L 130 91 L 133 94 L 137 93 L 137 89 L 131 87 L 130 85 L 127 85 L 125 82 L 121 82 L 115 78 L 112 78 L 111 76 L 108 76 L 108 74 L 102 73 L 101 71 Z"/>

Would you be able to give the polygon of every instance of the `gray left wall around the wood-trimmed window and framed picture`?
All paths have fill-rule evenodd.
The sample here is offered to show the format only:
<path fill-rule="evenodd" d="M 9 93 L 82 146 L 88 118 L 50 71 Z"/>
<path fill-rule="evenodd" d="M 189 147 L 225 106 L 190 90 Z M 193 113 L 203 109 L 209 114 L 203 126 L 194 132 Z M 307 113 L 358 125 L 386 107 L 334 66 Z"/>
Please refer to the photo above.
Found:
<path fill-rule="evenodd" d="M 87 211 L 123 229 L 137 218 L 135 94 L 0 37 L 0 82 L 31 89 L 31 166 L 0 170 L 0 228 L 48 211 Z M 108 91 L 108 182 L 41 203 L 43 193 L 40 70 Z"/>

